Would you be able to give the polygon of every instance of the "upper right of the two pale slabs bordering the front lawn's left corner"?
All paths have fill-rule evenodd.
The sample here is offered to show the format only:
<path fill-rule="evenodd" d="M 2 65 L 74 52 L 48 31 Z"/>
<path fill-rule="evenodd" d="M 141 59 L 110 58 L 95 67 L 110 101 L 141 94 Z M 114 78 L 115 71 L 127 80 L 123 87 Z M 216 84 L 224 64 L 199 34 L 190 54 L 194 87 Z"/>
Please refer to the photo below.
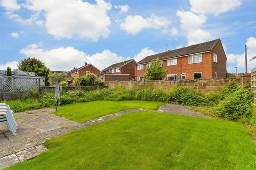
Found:
<path fill-rule="evenodd" d="M 21 162 L 27 159 L 34 158 L 41 154 L 43 151 L 48 150 L 44 145 L 38 145 L 32 148 L 28 148 L 16 153 Z"/>

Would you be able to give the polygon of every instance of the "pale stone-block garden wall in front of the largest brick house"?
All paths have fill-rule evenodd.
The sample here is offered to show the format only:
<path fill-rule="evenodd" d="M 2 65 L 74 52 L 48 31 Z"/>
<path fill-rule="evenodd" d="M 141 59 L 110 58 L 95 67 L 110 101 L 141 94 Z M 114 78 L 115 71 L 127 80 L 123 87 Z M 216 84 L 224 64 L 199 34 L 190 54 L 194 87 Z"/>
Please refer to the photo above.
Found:
<path fill-rule="evenodd" d="M 105 82 L 104 84 L 109 88 L 122 87 L 126 89 L 138 89 L 138 88 L 155 88 L 162 89 L 164 91 L 174 89 L 175 87 L 186 87 L 203 93 L 215 92 L 232 81 L 241 83 L 240 79 L 236 78 L 213 78 L 213 79 L 198 79 L 198 80 L 161 80 L 161 81 L 115 81 Z"/>

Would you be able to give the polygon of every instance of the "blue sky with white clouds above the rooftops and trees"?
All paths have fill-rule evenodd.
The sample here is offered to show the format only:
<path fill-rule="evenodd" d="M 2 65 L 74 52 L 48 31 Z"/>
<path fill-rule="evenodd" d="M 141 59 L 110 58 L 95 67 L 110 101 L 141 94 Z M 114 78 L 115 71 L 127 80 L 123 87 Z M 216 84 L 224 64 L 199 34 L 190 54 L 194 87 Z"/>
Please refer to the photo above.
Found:
<path fill-rule="evenodd" d="M 100 70 L 220 38 L 227 71 L 256 56 L 256 0 L 0 0 L 0 70 L 36 57 L 50 70 Z M 248 62 L 250 71 L 256 60 Z"/>

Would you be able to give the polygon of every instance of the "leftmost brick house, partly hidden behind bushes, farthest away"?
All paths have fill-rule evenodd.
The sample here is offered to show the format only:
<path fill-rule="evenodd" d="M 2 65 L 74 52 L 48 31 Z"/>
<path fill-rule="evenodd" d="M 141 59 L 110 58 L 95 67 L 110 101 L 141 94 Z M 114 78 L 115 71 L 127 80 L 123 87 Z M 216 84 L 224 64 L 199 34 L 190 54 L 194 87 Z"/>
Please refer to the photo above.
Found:
<path fill-rule="evenodd" d="M 83 76 L 86 73 L 93 73 L 95 75 L 98 75 L 101 73 L 101 71 L 94 65 L 85 63 L 85 65 L 83 65 L 82 67 L 74 67 L 73 70 L 68 71 L 68 80 L 72 81 L 74 78 L 77 78 L 78 76 Z"/>

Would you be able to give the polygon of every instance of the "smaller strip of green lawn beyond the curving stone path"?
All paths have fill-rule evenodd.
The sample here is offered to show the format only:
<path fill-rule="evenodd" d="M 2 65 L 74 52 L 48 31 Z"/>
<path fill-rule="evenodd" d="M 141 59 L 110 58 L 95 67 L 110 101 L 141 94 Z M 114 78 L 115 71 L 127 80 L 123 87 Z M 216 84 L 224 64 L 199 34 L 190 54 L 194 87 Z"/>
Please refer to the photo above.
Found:
<path fill-rule="evenodd" d="M 153 101 L 91 101 L 60 106 L 60 111 L 53 114 L 76 122 L 85 122 L 108 114 L 133 108 L 156 110 L 162 102 Z"/>

